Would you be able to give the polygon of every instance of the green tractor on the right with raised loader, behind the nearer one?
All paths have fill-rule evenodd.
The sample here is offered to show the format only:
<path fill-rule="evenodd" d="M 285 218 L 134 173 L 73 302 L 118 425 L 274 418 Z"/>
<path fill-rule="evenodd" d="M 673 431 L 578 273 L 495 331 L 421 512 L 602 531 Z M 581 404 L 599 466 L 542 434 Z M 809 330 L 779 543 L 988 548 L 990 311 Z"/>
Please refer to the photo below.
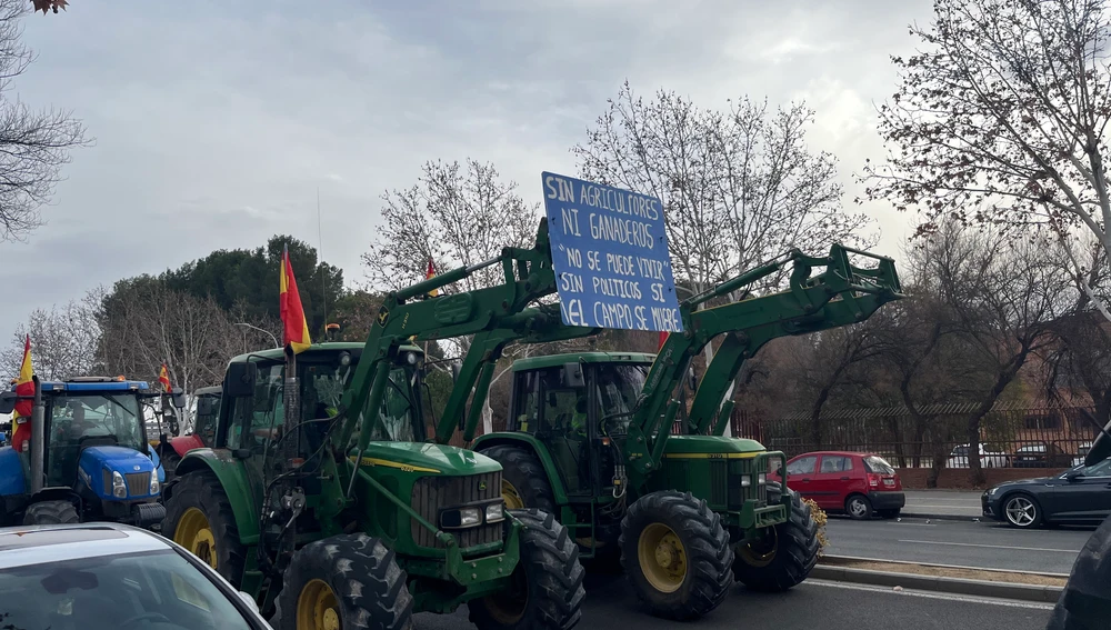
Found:
<path fill-rule="evenodd" d="M 850 254 L 878 264 L 854 267 Z M 714 298 L 747 294 L 747 287 L 789 263 L 789 290 L 697 310 Z M 783 490 L 782 452 L 723 437 L 730 386 L 771 339 L 863 321 L 900 297 L 891 259 L 840 246 L 819 258 L 792 251 L 681 303 L 685 332 L 671 334 L 658 356 L 583 352 L 517 361 L 507 432 L 481 436 L 472 448 L 502 464 L 509 508 L 558 514 L 594 564 L 620 558 L 653 614 L 701 617 L 734 580 L 753 590 L 790 589 L 817 563 L 818 528 L 810 507 Z M 540 327 L 532 327 L 533 337 Z M 544 337 L 590 333 L 549 320 Z M 718 336 L 722 343 L 698 381 L 691 359 Z M 457 389 L 466 390 L 509 342 L 522 339 L 530 340 L 506 330 L 477 336 Z M 689 412 L 673 396 L 685 379 L 697 386 Z M 464 398 L 459 393 L 454 402 Z M 687 434 L 673 436 L 680 408 Z M 460 410 L 444 416 L 461 417 Z M 470 443 L 476 423 L 462 427 Z"/>

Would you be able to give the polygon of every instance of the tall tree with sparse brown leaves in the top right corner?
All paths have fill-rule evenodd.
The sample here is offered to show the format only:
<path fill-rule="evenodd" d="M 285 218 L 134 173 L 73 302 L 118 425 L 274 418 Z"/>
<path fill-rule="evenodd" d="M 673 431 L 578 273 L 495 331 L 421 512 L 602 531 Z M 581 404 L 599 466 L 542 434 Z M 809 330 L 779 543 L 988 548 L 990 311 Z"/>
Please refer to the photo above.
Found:
<path fill-rule="evenodd" d="M 935 0 L 927 49 L 892 58 L 899 90 L 879 108 L 884 163 L 868 197 L 919 209 L 921 233 L 943 217 L 1048 228 L 1089 294 L 1080 236 L 1111 252 L 1103 156 L 1111 120 L 1107 0 Z"/>

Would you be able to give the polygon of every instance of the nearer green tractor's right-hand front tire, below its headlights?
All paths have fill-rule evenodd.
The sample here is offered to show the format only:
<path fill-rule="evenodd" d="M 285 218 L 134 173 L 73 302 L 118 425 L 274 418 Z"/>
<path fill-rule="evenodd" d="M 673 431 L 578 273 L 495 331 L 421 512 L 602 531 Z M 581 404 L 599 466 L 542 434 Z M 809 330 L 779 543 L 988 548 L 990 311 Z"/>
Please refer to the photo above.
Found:
<path fill-rule="evenodd" d="M 582 617 L 587 597 L 579 547 L 548 512 L 532 508 L 509 513 L 524 526 L 513 586 L 468 602 L 471 623 L 479 630 L 568 630 Z"/>

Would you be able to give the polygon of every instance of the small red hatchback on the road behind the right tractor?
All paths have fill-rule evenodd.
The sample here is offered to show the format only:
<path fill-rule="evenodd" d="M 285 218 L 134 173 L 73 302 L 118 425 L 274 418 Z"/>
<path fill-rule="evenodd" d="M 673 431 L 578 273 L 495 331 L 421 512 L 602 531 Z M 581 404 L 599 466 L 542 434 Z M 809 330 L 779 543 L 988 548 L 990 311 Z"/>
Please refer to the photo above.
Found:
<path fill-rule="evenodd" d="M 873 453 L 819 451 L 787 462 L 787 484 L 827 512 L 864 520 L 899 516 L 907 503 L 895 469 Z"/>

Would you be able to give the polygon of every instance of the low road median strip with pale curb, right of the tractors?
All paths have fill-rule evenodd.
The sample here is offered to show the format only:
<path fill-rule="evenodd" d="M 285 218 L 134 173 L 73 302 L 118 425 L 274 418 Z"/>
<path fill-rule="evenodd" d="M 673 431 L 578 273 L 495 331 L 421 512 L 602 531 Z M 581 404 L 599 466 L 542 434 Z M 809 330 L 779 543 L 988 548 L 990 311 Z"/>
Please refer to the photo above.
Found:
<path fill-rule="evenodd" d="M 870 569 L 849 569 L 818 564 L 810 572 L 811 578 L 852 582 L 875 587 L 902 587 L 921 591 L 935 591 L 971 597 L 994 599 L 1013 599 L 1038 603 L 1057 603 L 1061 598 L 1063 587 L 1039 587 L 1035 584 L 1012 584 L 1004 582 L 987 582 L 964 578 L 940 578 L 935 576 L 919 576 L 917 573 L 893 573 L 890 571 L 873 571 Z"/>

